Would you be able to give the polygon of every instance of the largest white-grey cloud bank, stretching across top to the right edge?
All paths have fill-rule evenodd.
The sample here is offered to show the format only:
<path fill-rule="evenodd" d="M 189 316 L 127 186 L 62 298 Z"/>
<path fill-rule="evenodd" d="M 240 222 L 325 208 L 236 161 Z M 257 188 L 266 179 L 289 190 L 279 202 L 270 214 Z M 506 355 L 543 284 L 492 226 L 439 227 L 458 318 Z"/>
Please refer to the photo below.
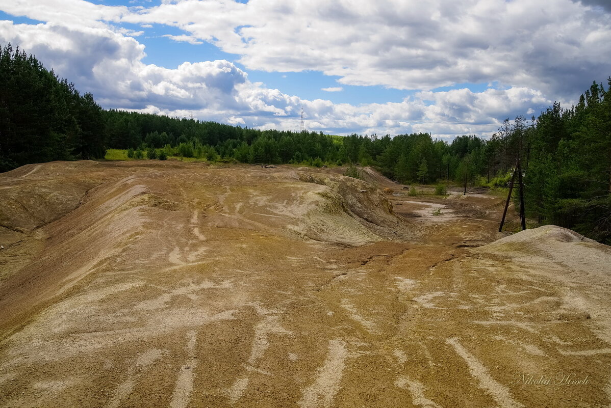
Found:
<path fill-rule="evenodd" d="M 416 90 L 498 81 L 574 96 L 609 74 L 611 51 L 610 16 L 582 3 L 608 2 L 182 0 L 121 19 L 180 27 L 241 55 L 247 69 Z"/>

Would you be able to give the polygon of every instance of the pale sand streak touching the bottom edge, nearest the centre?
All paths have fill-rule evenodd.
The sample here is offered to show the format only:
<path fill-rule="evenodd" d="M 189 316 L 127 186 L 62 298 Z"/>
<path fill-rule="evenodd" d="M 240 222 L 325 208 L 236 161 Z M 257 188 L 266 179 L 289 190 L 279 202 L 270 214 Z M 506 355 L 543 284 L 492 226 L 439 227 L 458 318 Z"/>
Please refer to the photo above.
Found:
<path fill-rule="evenodd" d="M 313 384 L 305 388 L 298 404 L 302 408 L 329 407 L 340 389 L 348 349 L 342 340 L 329 342 L 329 354 L 316 371 Z"/>

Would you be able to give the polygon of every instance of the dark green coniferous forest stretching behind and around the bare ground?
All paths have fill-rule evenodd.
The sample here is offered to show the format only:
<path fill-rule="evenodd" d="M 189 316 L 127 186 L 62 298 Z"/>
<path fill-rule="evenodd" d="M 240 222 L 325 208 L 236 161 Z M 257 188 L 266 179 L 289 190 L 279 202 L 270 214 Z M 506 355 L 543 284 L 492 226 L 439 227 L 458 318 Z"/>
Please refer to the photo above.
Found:
<path fill-rule="evenodd" d="M 611 244 L 610 88 L 611 77 L 607 88 L 593 82 L 576 106 L 554 103 L 538 117 L 505 120 L 489 139 L 340 137 L 104 110 L 90 93 L 81 95 L 33 55 L 7 45 L 0 50 L 0 171 L 51 160 L 102 159 L 115 148 L 129 149 L 136 158 L 357 163 L 402 183 L 466 179 L 471 186 L 503 188 L 519 157 L 527 217 Z"/>

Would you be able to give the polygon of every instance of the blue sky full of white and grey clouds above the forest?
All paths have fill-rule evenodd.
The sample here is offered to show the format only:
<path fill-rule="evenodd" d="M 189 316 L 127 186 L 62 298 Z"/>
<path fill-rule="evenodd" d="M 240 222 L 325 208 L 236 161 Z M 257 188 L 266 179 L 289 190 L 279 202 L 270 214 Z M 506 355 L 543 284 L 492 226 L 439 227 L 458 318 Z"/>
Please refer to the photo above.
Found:
<path fill-rule="evenodd" d="M 489 137 L 611 75 L 610 0 L 12 0 L 18 45 L 106 109 Z"/>

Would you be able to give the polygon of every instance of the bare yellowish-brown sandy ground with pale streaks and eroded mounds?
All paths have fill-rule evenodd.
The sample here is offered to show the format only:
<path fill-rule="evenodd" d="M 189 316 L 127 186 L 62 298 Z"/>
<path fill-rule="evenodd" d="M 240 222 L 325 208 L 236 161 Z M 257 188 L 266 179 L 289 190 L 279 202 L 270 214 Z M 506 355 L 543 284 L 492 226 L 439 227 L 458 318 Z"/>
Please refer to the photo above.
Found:
<path fill-rule="evenodd" d="M 364 173 L 0 174 L 0 406 L 611 405 L 608 246 Z"/>

